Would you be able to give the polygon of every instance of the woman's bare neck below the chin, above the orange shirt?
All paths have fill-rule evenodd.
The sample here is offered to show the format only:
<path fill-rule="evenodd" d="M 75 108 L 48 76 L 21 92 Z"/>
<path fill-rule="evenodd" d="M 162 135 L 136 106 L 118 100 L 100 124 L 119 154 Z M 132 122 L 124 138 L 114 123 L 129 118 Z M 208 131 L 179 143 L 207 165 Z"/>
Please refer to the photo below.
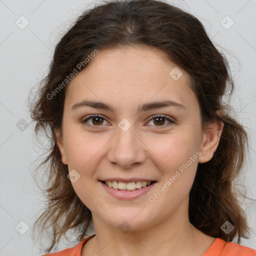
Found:
<path fill-rule="evenodd" d="M 202 255 L 214 238 L 197 230 L 182 205 L 173 216 L 139 230 L 121 231 L 94 215 L 95 236 L 88 240 L 91 255 Z M 94 240 L 93 240 L 94 239 Z M 89 249 L 90 247 L 90 249 Z M 82 254 L 87 255 L 87 254 Z M 88 254 L 90 255 L 90 254 Z"/>

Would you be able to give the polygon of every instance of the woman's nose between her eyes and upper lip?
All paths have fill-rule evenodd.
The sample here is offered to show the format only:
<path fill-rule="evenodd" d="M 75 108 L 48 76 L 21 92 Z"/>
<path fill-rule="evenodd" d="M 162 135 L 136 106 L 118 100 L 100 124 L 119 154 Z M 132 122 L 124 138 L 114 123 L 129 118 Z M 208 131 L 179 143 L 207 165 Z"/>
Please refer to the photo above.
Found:
<path fill-rule="evenodd" d="M 126 131 L 117 127 L 117 134 L 111 139 L 107 159 L 122 168 L 130 168 L 132 164 L 145 161 L 145 150 L 145 144 L 134 133 L 132 126 Z"/>

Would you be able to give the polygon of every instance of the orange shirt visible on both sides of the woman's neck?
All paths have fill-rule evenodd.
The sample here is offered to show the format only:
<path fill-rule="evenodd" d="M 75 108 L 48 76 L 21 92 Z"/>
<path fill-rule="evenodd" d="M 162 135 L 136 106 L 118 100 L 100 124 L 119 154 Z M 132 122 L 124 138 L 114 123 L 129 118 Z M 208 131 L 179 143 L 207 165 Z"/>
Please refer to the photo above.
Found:
<path fill-rule="evenodd" d="M 93 236 L 95 236 L 95 234 L 84 238 L 74 247 L 58 252 L 43 254 L 42 256 L 81 256 L 83 244 Z M 225 242 L 223 239 L 216 238 L 202 256 L 256 256 L 256 250 L 237 243 Z"/>

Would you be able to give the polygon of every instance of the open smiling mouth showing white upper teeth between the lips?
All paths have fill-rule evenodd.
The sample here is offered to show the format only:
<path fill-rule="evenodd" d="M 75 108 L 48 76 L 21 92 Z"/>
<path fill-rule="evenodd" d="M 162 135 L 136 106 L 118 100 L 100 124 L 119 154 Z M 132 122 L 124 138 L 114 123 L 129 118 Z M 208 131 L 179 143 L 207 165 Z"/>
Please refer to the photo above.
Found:
<path fill-rule="evenodd" d="M 140 188 L 146 187 L 146 186 L 151 186 L 153 183 L 156 182 L 154 181 L 131 181 L 131 182 L 118 182 L 118 181 L 109 181 L 109 180 L 99 180 L 103 184 L 105 184 L 108 187 L 111 187 L 116 190 L 125 190 L 125 191 L 134 191 L 138 190 Z"/>

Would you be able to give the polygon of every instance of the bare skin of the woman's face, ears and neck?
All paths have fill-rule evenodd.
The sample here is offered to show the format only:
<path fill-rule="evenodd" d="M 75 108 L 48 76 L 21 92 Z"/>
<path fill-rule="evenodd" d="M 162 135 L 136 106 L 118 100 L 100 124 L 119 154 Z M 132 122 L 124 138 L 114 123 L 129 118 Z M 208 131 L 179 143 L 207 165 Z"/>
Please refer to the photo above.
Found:
<path fill-rule="evenodd" d="M 82 248 L 85 255 L 203 255 L 214 241 L 191 225 L 188 195 L 198 162 L 213 156 L 222 132 L 219 121 L 201 129 L 200 109 L 185 70 L 174 80 L 177 65 L 158 49 L 125 46 L 99 50 L 68 85 L 62 132 L 56 131 L 62 162 L 80 175 L 72 186 L 92 213 L 96 236 Z M 111 104 L 116 112 L 89 106 L 71 107 L 83 99 Z M 138 105 L 173 100 L 167 106 L 136 113 Z M 83 121 L 90 114 L 103 120 Z M 153 115 L 166 115 L 160 124 Z M 131 126 L 123 131 L 118 123 Z M 157 118 L 157 117 L 153 117 Z M 93 128 L 96 126 L 96 128 Z M 100 126 L 101 125 L 101 126 Z M 148 200 L 182 164 L 200 152 L 188 168 L 154 202 Z M 131 200 L 105 192 L 98 179 L 144 177 L 154 189 Z M 130 229 L 123 233 L 119 225 Z"/>

